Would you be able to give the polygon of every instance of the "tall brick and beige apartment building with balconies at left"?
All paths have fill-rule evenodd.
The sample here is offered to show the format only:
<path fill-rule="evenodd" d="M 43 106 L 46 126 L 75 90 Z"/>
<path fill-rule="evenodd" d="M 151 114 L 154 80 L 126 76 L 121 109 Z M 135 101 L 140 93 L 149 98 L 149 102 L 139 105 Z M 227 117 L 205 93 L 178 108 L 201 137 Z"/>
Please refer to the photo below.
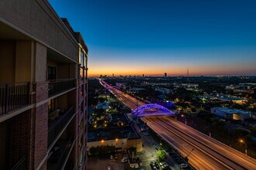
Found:
<path fill-rule="evenodd" d="M 47 0 L 0 1 L 0 169 L 86 169 L 87 59 Z"/>

